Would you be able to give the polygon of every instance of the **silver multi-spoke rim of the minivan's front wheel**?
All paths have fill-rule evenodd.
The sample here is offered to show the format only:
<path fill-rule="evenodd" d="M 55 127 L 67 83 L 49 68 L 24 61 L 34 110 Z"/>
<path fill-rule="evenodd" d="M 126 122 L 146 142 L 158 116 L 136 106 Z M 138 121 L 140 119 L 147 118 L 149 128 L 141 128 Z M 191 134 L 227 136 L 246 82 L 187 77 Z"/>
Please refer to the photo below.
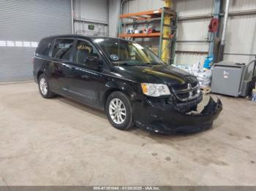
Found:
<path fill-rule="evenodd" d="M 118 98 L 113 98 L 109 104 L 109 114 L 113 122 L 122 124 L 127 116 L 127 110 L 125 109 L 123 101 Z"/>

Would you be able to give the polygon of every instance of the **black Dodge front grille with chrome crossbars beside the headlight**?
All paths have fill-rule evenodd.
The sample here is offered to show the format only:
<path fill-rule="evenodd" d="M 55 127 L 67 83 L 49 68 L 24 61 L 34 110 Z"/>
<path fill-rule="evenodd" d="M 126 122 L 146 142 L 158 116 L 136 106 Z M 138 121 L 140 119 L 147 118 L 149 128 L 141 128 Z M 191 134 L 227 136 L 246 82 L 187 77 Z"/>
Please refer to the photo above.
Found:
<path fill-rule="evenodd" d="M 190 101 L 197 98 L 200 93 L 198 90 L 198 82 L 193 82 L 184 85 L 173 85 L 173 93 L 179 101 Z"/>

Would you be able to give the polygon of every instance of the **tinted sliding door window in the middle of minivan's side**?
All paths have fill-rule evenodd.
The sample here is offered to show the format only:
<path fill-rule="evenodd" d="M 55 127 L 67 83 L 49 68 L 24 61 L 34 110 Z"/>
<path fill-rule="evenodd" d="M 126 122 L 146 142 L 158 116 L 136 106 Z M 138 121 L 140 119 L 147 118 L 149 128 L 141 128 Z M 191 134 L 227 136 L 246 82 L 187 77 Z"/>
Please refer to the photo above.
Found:
<path fill-rule="evenodd" d="M 72 39 L 56 39 L 56 43 L 53 48 L 53 58 L 69 61 L 73 44 L 74 40 Z"/>

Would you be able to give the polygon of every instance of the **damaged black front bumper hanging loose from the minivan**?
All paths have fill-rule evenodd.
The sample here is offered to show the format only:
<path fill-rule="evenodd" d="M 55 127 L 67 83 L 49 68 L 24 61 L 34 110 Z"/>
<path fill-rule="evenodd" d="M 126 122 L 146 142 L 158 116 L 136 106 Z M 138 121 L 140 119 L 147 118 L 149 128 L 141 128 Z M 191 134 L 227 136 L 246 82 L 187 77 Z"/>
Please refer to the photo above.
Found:
<path fill-rule="evenodd" d="M 154 133 L 195 133 L 211 128 L 222 111 L 222 102 L 209 98 L 201 112 L 181 112 L 173 104 L 145 99 L 135 101 L 134 120 L 139 128 Z"/>

